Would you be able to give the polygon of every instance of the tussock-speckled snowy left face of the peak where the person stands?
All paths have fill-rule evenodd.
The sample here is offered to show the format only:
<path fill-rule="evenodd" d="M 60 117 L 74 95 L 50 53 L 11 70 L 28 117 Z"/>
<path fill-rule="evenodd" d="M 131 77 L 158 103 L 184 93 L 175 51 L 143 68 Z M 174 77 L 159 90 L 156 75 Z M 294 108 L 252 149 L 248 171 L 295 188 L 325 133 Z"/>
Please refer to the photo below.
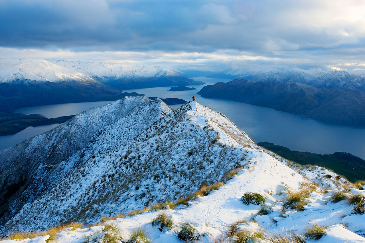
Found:
<path fill-rule="evenodd" d="M 94 154 L 9 224 L 30 229 L 65 220 L 92 222 L 110 212 L 176 200 L 241 166 L 243 145 L 256 146 L 223 115 L 187 103 L 115 152 Z M 23 224 L 35 216 L 31 225 Z"/>

